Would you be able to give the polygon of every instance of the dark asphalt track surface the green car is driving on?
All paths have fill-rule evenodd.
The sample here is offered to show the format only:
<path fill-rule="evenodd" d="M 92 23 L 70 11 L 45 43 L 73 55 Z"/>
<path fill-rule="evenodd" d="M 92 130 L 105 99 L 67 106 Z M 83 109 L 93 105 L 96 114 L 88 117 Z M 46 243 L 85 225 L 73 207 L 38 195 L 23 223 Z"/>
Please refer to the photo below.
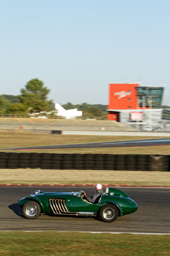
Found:
<path fill-rule="evenodd" d="M 120 188 L 137 202 L 138 210 L 118 217 L 112 223 L 105 223 L 95 218 L 46 215 L 39 216 L 36 220 L 27 220 L 23 217 L 18 200 L 37 189 L 44 192 L 80 190 L 75 187 L 1 187 L 0 230 L 170 233 L 168 188 Z M 94 188 L 84 189 L 89 196 L 94 193 Z"/>

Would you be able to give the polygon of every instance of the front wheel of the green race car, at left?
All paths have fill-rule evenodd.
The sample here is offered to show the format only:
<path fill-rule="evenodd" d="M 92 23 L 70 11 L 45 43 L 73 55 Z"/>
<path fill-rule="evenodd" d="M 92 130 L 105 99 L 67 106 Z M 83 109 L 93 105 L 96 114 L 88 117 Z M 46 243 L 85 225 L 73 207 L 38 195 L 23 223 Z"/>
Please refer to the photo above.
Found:
<path fill-rule="evenodd" d="M 31 220 L 39 217 L 41 213 L 40 204 L 36 201 L 28 201 L 23 206 L 23 214 L 25 218 L 29 218 Z"/>

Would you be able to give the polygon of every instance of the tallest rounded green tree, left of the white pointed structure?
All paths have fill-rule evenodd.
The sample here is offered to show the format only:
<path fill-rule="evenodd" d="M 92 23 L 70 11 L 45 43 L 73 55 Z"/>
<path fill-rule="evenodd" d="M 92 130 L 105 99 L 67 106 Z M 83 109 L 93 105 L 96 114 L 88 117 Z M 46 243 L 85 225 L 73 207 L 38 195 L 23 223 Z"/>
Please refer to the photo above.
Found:
<path fill-rule="evenodd" d="M 25 89 L 21 90 L 21 95 L 19 98 L 27 108 L 31 110 L 31 112 L 49 112 L 53 109 L 52 100 L 47 100 L 47 95 L 49 93 L 49 89 L 47 89 L 43 82 L 39 79 L 32 79 L 27 82 L 25 85 Z"/>

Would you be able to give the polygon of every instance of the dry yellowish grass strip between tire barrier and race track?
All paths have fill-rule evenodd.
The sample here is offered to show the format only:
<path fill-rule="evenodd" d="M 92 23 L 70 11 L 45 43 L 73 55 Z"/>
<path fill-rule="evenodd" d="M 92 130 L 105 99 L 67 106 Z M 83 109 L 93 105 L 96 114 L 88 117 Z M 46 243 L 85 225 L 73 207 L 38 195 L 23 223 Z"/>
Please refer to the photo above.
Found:
<path fill-rule="evenodd" d="M 170 185 L 169 172 L 0 169 L 0 184 Z"/>

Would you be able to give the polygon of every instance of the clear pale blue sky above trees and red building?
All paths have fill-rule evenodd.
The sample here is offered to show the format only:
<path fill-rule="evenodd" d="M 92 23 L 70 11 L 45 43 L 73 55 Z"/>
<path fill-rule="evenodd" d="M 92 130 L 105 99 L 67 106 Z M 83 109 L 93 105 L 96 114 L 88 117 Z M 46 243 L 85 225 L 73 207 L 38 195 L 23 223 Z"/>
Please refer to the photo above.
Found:
<path fill-rule="evenodd" d="M 163 86 L 170 105 L 169 0 L 0 0 L 0 95 L 31 79 L 49 100 L 108 104 L 108 85 Z"/>

